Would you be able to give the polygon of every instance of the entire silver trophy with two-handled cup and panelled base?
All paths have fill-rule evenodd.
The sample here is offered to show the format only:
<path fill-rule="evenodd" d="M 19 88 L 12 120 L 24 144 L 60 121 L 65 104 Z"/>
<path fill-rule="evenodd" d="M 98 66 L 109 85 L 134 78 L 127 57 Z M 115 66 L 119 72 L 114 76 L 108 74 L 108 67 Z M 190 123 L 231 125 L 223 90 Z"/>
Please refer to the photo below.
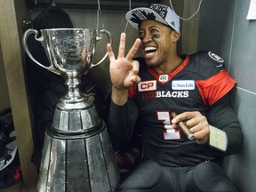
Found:
<path fill-rule="evenodd" d="M 63 76 L 68 92 L 56 108 L 51 127 L 44 136 L 37 190 L 54 191 L 116 191 L 119 182 L 114 153 L 107 126 L 100 119 L 88 95 L 79 90 L 80 77 L 93 64 L 95 46 L 108 36 L 106 29 L 51 28 L 28 29 L 23 35 L 23 46 L 28 57 L 37 65 Z M 36 41 L 44 46 L 50 66 L 38 62 L 28 50 L 28 36 L 35 34 Z"/>

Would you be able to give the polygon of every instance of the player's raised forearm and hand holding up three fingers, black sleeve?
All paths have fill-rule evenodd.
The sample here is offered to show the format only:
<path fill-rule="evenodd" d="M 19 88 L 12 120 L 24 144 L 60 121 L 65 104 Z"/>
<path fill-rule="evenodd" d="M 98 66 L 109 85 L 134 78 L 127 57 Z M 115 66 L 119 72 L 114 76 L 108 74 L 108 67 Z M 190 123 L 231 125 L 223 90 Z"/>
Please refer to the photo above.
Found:
<path fill-rule="evenodd" d="M 107 45 L 112 83 L 108 132 L 114 148 L 119 148 L 131 139 L 133 126 L 138 116 L 138 109 L 135 102 L 129 100 L 128 91 L 134 84 L 140 83 L 140 76 L 138 76 L 140 63 L 137 60 L 132 60 L 140 47 L 140 39 L 135 40 L 126 56 L 124 56 L 125 40 L 126 35 L 122 33 L 117 57 L 115 57 L 112 45 Z"/>

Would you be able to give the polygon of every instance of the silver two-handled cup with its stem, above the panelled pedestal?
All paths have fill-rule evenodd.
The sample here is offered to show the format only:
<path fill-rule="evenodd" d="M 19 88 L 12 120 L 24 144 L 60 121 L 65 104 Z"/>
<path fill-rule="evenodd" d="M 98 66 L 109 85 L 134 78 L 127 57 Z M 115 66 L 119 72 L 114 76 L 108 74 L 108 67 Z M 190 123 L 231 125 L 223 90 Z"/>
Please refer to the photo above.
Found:
<path fill-rule="evenodd" d="M 36 29 L 30 28 L 25 31 L 22 42 L 25 52 L 37 65 L 63 76 L 66 80 L 68 92 L 58 103 L 60 108 L 84 108 L 87 102 L 84 102 L 86 97 L 78 88 L 80 76 L 106 59 L 107 53 L 98 63 L 92 64 L 96 42 L 105 34 L 111 43 L 110 33 L 106 29 L 98 31 L 89 28 L 51 28 L 42 29 L 40 32 L 41 36 L 38 37 L 39 32 Z M 36 41 L 44 46 L 50 66 L 44 66 L 29 52 L 28 36 L 31 34 L 35 34 Z"/>

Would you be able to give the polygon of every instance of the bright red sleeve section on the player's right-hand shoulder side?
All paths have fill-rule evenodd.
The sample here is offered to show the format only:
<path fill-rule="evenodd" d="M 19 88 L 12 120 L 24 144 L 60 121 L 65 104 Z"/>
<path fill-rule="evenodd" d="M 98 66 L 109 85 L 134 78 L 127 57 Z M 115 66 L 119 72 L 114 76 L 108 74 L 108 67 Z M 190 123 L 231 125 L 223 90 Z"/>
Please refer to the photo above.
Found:
<path fill-rule="evenodd" d="M 207 107 L 212 106 L 213 103 L 220 100 L 235 84 L 235 80 L 228 76 L 226 69 L 222 70 L 216 76 L 196 81 L 196 86 L 204 100 L 204 105 Z"/>

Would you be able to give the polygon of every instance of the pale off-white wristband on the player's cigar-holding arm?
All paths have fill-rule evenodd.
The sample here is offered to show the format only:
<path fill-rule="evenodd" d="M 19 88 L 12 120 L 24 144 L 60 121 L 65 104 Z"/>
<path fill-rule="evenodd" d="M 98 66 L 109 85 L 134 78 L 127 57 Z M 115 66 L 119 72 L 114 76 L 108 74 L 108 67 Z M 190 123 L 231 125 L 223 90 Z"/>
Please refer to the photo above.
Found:
<path fill-rule="evenodd" d="M 217 148 L 221 151 L 226 151 L 228 148 L 228 136 L 226 132 L 209 125 L 210 128 L 210 140 L 209 145 L 212 148 Z"/>

